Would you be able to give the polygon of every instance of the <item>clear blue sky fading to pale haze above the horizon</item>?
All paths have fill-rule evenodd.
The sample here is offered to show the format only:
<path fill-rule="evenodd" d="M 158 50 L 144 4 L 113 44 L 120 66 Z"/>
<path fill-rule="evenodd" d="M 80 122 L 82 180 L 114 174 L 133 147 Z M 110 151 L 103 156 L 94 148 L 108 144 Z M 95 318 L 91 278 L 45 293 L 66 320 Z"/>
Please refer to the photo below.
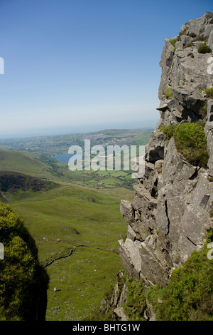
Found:
<path fill-rule="evenodd" d="M 165 38 L 207 1 L 0 0 L 0 138 L 153 126 Z"/>

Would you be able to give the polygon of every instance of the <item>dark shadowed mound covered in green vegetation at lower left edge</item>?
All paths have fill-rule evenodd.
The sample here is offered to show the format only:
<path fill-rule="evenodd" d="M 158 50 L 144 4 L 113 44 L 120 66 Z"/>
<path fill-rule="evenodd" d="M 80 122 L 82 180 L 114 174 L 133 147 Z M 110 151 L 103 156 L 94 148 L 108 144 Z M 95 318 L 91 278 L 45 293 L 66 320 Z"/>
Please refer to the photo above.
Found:
<path fill-rule="evenodd" d="M 48 276 L 38 262 L 38 249 L 23 220 L 2 202 L 0 241 L 4 244 L 4 259 L 0 259 L 0 320 L 45 319 Z"/>

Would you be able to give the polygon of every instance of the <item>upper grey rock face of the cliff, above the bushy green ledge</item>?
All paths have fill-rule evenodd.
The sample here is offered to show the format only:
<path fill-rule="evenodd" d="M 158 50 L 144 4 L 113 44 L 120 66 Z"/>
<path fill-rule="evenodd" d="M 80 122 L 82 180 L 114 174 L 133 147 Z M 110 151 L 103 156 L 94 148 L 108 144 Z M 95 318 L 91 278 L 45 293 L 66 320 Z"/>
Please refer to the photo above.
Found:
<path fill-rule="evenodd" d="M 207 12 L 182 26 L 180 35 L 175 38 L 175 48 L 170 43 L 174 38 L 165 39 L 160 61 L 160 106 L 157 108 L 160 110 L 160 126 L 204 118 L 202 107 L 205 99 L 199 91 L 212 86 L 213 71 L 209 68 L 212 55 L 199 53 L 198 46 L 207 44 L 213 50 L 212 17 L 213 14 Z M 164 94 L 168 88 L 173 93 L 169 100 Z"/>

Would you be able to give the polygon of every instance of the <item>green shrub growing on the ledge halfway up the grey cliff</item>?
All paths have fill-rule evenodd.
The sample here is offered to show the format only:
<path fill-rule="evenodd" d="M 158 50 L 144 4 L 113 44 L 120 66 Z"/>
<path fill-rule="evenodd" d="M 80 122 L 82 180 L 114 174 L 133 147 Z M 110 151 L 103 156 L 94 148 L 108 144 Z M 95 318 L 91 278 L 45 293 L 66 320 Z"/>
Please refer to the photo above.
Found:
<path fill-rule="evenodd" d="M 181 123 L 180 125 L 163 125 L 160 131 L 163 131 L 168 140 L 174 137 L 177 150 L 190 164 L 206 168 L 209 154 L 204 125 L 205 123 L 202 121 Z"/>

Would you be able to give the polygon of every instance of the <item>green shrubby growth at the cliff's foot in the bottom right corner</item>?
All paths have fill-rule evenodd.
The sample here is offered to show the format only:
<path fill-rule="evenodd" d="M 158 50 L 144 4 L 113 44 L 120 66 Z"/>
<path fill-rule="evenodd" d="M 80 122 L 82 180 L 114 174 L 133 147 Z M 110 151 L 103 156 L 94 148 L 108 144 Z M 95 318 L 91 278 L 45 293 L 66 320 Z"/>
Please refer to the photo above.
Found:
<path fill-rule="evenodd" d="M 192 252 L 182 267 L 173 270 L 168 287 L 147 290 L 159 321 L 213 321 L 213 259 L 207 257 L 212 235 L 210 230 L 202 250 Z"/>

